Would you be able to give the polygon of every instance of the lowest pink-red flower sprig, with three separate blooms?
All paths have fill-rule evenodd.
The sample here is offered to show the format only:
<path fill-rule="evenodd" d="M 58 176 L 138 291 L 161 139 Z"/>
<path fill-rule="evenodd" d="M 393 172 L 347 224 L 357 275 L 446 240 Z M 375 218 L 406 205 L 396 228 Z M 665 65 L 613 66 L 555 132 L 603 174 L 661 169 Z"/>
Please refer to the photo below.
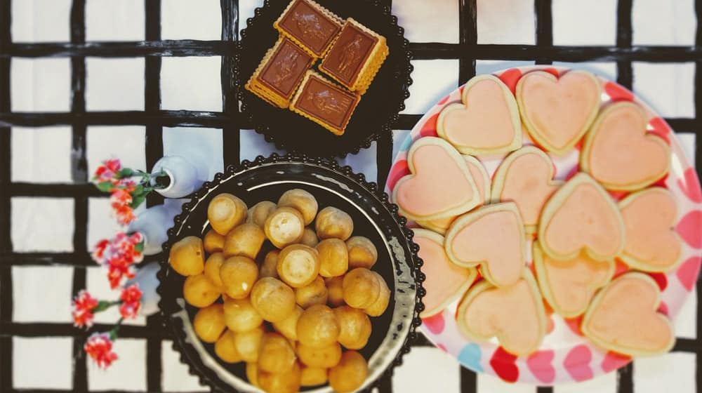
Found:
<path fill-rule="evenodd" d="M 117 340 L 119 326 L 124 319 L 136 318 L 141 307 L 143 293 L 139 284 L 131 284 L 122 289 L 119 300 L 98 300 L 83 290 L 73 300 L 73 324 L 79 328 L 93 326 L 95 314 L 103 312 L 110 307 L 119 305 L 121 318 L 109 332 L 93 333 L 86 341 L 83 349 L 98 364 L 100 368 L 107 368 L 117 360 L 117 353 L 112 351 L 114 340 Z"/>

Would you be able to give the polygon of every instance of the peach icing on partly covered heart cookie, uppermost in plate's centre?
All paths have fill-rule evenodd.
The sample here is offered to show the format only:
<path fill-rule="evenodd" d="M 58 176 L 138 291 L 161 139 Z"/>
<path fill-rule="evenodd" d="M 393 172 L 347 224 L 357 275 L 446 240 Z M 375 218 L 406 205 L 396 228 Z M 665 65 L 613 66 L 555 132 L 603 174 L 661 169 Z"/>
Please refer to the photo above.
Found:
<path fill-rule="evenodd" d="M 550 161 L 538 154 L 522 154 L 505 173 L 501 201 L 514 201 L 522 213 L 524 225 L 536 225 L 541 209 L 559 185 L 552 183 Z"/>

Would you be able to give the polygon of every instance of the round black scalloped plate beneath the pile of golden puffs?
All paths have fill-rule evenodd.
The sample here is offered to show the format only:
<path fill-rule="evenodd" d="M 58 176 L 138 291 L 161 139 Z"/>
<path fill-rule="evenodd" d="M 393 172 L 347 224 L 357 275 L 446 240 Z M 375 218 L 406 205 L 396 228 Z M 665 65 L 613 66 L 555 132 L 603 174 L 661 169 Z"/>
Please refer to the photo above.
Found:
<path fill-rule="evenodd" d="M 369 377 L 364 387 L 371 387 L 380 375 L 392 372 L 401 362 L 402 354 L 409 352 L 409 340 L 421 324 L 418 314 L 423 309 L 420 298 L 424 290 L 412 232 L 404 227 L 404 218 L 397 215 L 397 206 L 388 203 L 388 195 L 379 192 L 374 183 L 366 182 L 363 175 L 355 175 L 349 167 L 340 168 L 335 161 L 281 158 L 276 154 L 268 159 L 259 156 L 253 163 L 244 161 L 238 167 L 230 166 L 226 173 L 218 173 L 212 182 L 206 182 L 183 206 L 183 213 L 175 218 L 176 225 L 168 229 L 164 251 L 168 253 L 171 245 L 183 237 L 202 236 L 210 228 L 207 206 L 217 194 L 235 194 L 252 206 L 258 201 L 277 201 L 291 188 L 303 188 L 314 194 L 319 208 L 336 206 L 349 213 L 355 224 L 354 234 L 368 237 L 378 248 L 378 262 L 373 270 L 383 276 L 392 294 L 391 306 L 385 313 L 371 318 L 371 337 L 368 345 L 359 351 L 369 359 Z M 161 313 L 176 338 L 173 347 L 190 366 L 190 373 L 224 392 L 232 388 L 239 392 L 260 392 L 246 382 L 244 363 L 220 361 L 213 345 L 201 342 L 194 334 L 192 318 L 197 307 L 186 304 L 185 277 L 171 269 L 168 261 L 161 262 L 159 281 Z M 331 392 L 331 387 L 314 392 Z"/>

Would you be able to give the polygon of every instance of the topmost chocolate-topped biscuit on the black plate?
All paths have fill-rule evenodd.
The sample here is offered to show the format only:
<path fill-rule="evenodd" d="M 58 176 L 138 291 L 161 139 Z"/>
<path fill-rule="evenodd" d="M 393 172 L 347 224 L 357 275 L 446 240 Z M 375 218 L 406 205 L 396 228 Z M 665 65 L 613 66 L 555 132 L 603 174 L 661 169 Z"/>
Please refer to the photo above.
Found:
<path fill-rule="evenodd" d="M 314 1 L 293 0 L 273 27 L 321 58 L 340 32 L 341 20 Z"/>

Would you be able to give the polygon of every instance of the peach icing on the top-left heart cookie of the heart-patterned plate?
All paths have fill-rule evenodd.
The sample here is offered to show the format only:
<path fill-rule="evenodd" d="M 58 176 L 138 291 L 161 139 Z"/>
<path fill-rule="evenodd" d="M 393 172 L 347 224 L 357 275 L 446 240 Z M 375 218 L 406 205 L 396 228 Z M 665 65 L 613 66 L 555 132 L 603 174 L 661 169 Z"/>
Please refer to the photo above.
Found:
<path fill-rule="evenodd" d="M 515 126 L 503 87 L 484 79 L 464 94 L 465 109 L 453 110 L 444 118 L 446 138 L 458 145 L 482 149 L 509 145 L 515 138 Z"/>

